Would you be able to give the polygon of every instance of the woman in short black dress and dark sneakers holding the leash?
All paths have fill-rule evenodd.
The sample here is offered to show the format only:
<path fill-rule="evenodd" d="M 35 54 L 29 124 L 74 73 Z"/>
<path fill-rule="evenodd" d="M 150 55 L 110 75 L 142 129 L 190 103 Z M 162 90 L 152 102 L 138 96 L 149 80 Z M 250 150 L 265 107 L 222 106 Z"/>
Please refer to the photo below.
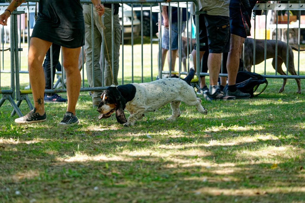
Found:
<path fill-rule="evenodd" d="M 0 15 L 0 24 L 7 25 L 7 19 L 25 0 L 13 0 Z M 99 16 L 104 6 L 99 0 L 91 0 Z M 75 106 L 81 88 L 81 74 L 78 70 L 78 58 L 84 45 L 84 18 L 80 0 L 40 0 L 38 18 L 35 23 L 28 54 L 29 77 L 32 87 L 34 109 L 27 115 L 15 119 L 19 124 L 46 121 L 44 108 L 45 78 L 42 62 L 51 44 L 62 47 L 63 66 L 66 71 L 68 107 L 61 126 L 72 126 L 79 121 L 75 115 Z"/>

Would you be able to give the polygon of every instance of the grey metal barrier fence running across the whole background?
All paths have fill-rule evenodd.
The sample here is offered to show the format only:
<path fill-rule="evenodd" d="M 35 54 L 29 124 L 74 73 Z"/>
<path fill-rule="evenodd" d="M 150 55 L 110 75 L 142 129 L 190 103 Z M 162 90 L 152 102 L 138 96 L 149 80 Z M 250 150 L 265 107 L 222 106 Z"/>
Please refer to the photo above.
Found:
<path fill-rule="evenodd" d="M 2 63 L 0 63 L 0 69 L 1 69 L 1 73 L 2 74 L 10 74 L 11 76 L 11 84 L 9 86 L 9 88 L 5 87 L 5 89 L 3 89 L 2 87 L 2 80 L 1 80 L 1 76 L 0 76 L 0 94 L 2 94 L 2 99 L 0 100 L 0 107 L 2 106 L 2 104 L 5 102 L 5 100 L 9 100 L 9 102 L 11 103 L 12 107 L 13 107 L 13 112 L 12 112 L 12 116 L 15 114 L 15 112 L 18 114 L 18 116 L 22 116 L 22 113 L 19 109 L 20 103 L 25 100 L 29 106 L 30 109 L 33 109 L 32 104 L 30 103 L 30 100 L 28 99 L 28 94 L 31 94 L 31 90 L 23 90 L 20 89 L 20 73 L 28 73 L 26 67 L 22 67 L 22 61 L 21 61 L 21 54 L 22 53 L 27 53 L 27 50 L 24 50 L 21 47 L 21 43 L 23 43 L 23 47 L 26 47 L 26 43 L 25 43 L 25 34 L 27 33 L 27 42 L 30 41 L 30 13 L 33 12 L 33 10 L 35 9 L 35 2 L 39 2 L 39 0 L 30 0 L 28 1 L 26 4 L 23 4 L 23 7 L 18 8 L 17 11 L 12 12 L 12 15 L 10 16 L 10 30 L 9 30 L 9 48 L 5 48 L 4 46 L 6 45 L 6 42 L 8 41 L 7 38 L 7 34 L 6 31 L 4 29 L 4 27 L 2 26 L 2 30 L 0 32 L 0 38 L 1 38 L 1 55 L 0 58 L 2 57 Z M 199 24 L 199 14 L 202 14 L 204 12 L 199 12 L 198 11 L 198 4 L 196 0 L 189 0 L 189 1 L 185 1 L 185 0 L 173 0 L 170 3 L 165 3 L 165 1 L 161 1 L 161 0 L 146 0 L 145 3 L 148 4 L 148 7 L 143 6 L 143 1 L 139 1 L 139 0 L 129 0 L 129 1 L 114 1 L 114 0 L 107 0 L 107 3 L 112 4 L 112 8 L 111 11 L 113 13 L 113 4 L 114 3 L 120 3 L 121 4 L 121 9 L 120 9 L 120 18 L 121 18 L 121 27 L 122 27 L 122 39 L 121 39 L 121 67 L 120 67 L 120 72 L 121 72 L 121 84 L 124 84 L 124 79 L 126 79 L 125 75 L 124 75 L 124 66 L 128 66 L 126 65 L 126 61 L 125 61 L 125 57 L 126 57 L 126 50 L 124 50 L 124 40 L 126 39 L 126 36 L 124 37 L 124 29 L 127 28 L 127 22 L 124 21 L 124 15 L 126 10 L 130 10 L 131 11 L 131 16 L 130 16 L 130 24 L 128 26 L 130 26 L 131 28 L 131 34 L 130 39 L 131 39 L 131 82 L 134 82 L 134 78 L 135 76 L 140 76 L 141 78 L 141 82 L 147 82 L 144 81 L 144 69 L 143 69 L 143 60 L 145 60 L 145 58 L 147 57 L 147 55 L 144 56 L 143 54 L 143 33 L 144 33 L 144 27 L 143 27 L 143 19 L 144 19 L 144 15 L 143 12 L 144 11 L 148 11 L 149 12 L 149 26 L 150 26 L 150 81 L 154 80 L 154 75 L 153 75 L 153 70 L 156 69 L 158 67 L 158 76 L 159 78 L 162 78 L 162 74 L 169 74 L 171 75 L 172 73 L 174 74 L 178 74 L 178 76 L 180 77 L 180 75 L 184 75 L 187 74 L 188 72 L 188 63 L 187 64 L 187 69 L 185 71 L 181 71 L 181 54 L 182 54 L 182 39 L 181 39 L 181 31 L 182 31 L 182 12 L 181 12 L 181 8 L 186 8 L 187 10 L 189 10 L 190 8 L 190 2 L 194 2 L 196 8 L 195 8 L 195 21 L 196 21 L 196 30 L 198 30 L 198 24 Z M 296 27 L 298 28 L 298 49 L 300 50 L 300 28 L 305 28 L 305 23 L 304 23 L 304 27 L 301 24 L 301 10 L 305 10 L 305 4 L 304 4 L 304 9 L 303 9 L 303 4 L 301 4 L 301 1 L 299 1 L 300 3 L 298 4 L 290 4 L 289 1 L 288 3 L 281 3 L 281 4 L 256 4 L 254 7 L 254 13 L 256 14 L 256 12 L 258 10 L 263 10 L 265 12 L 265 53 L 264 53 L 264 59 L 265 59 L 265 69 L 264 69 L 264 76 L 267 78 L 284 78 L 284 79 L 288 79 L 288 78 L 293 78 L 293 79 L 305 79 L 304 75 L 300 75 L 300 51 L 298 51 L 298 70 L 297 70 L 297 75 L 288 75 L 288 69 L 286 71 L 286 75 L 277 75 L 277 71 L 275 71 L 274 75 L 266 75 L 266 59 L 267 59 L 267 13 L 268 11 L 278 11 L 278 10 L 287 10 L 287 11 L 291 11 L 291 10 L 297 10 L 298 11 L 298 16 L 299 16 L 299 22 L 298 22 L 298 26 L 291 26 L 291 24 L 289 24 L 289 18 L 290 15 L 287 16 L 287 24 L 286 26 L 284 26 L 287 29 L 287 44 L 289 45 L 289 29 L 291 27 Z M 91 5 L 91 1 L 90 0 L 81 0 L 81 3 L 87 3 Z M 102 3 L 105 3 L 105 1 L 102 1 Z M 160 3 L 160 4 L 159 4 Z M 127 9 L 125 6 L 125 4 L 130 4 L 129 8 Z M 5 6 L 7 4 L 0 4 L 0 6 Z M 134 6 L 134 5 L 140 5 L 139 7 Z M 178 72 L 172 72 L 171 68 L 169 67 L 169 71 L 161 71 L 161 64 L 162 64 L 162 59 L 161 59 L 161 54 L 159 54 L 158 56 L 156 56 L 156 53 L 153 51 L 153 44 L 155 42 L 158 42 L 158 52 L 161 53 L 162 52 L 162 48 L 161 48 L 161 44 L 162 44 L 162 29 L 159 30 L 159 37 L 158 38 L 154 38 L 154 33 L 153 33 L 153 13 L 157 13 L 158 15 L 158 23 L 159 23 L 159 28 L 160 28 L 160 24 L 161 24 L 161 19 L 162 19 L 162 14 L 161 14 L 161 10 L 162 10 L 162 5 L 168 5 L 169 8 L 170 7 L 178 7 L 178 36 L 179 36 L 179 40 L 178 40 Z M 4 11 L 4 7 L 0 8 L 0 12 L 2 13 Z M 140 11 L 140 27 L 141 27 L 141 32 L 140 32 L 140 37 L 141 37 L 141 58 L 136 56 L 134 57 L 134 41 L 135 41 L 135 36 L 137 36 L 138 34 L 135 33 L 135 20 L 137 19 L 134 16 L 134 12 L 135 11 Z M 27 32 L 25 32 L 24 29 L 21 29 L 21 14 L 27 12 Z M 94 12 L 93 6 L 91 6 L 91 13 Z M 276 43 L 278 41 L 278 29 L 282 29 L 284 24 L 278 24 L 278 19 L 279 19 L 279 15 L 278 12 L 276 12 L 276 20 L 275 20 L 275 26 L 269 26 L 272 27 L 272 29 L 275 30 L 276 32 Z M 18 28 L 18 17 L 19 17 L 19 28 Z M 126 16 L 125 16 L 126 17 Z M 129 16 L 128 16 L 129 17 Z M 169 9 L 169 18 L 171 18 L 171 9 Z M 186 18 L 190 19 L 190 21 L 192 22 L 192 16 L 190 16 L 190 14 L 188 12 L 186 12 Z M 254 25 L 252 26 L 254 28 L 254 31 L 256 31 L 256 20 L 257 20 L 257 15 L 253 16 L 254 18 Z M 93 19 L 92 19 L 93 21 Z M 112 18 L 112 22 L 113 22 L 113 18 Z M 188 20 L 189 22 L 189 20 Z M 185 24 L 185 29 L 186 29 L 186 52 L 187 52 L 187 61 L 188 61 L 188 54 L 192 51 L 192 35 L 190 35 L 190 33 L 192 33 L 192 26 L 190 26 L 192 24 L 190 23 L 186 23 Z M 280 26 L 279 26 L 280 25 Z M 138 26 L 138 25 L 136 25 Z M 171 33 L 171 21 L 169 23 L 169 33 Z M 110 29 L 110 28 L 108 28 Z M 112 39 L 113 39 L 113 26 L 111 26 L 111 31 L 112 31 Z M 21 37 L 22 35 L 22 37 Z M 171 35 L 170 35 L 171 36 Z M 254 39 L 256 39 L 256 32 L 254 32 Z M 304 39 L 305 40 L 305 39 Z M 171 37 L 169 37 L 169 41 L 171 42 Z M 199 44 L 199 33 L 196 32 L 196 44 Z M 171 51 L 171 43 L 169 43 L 170 45 L 170 50 Z M 93 42 L 93 46 L 94 46 L 94 42 Z M 102 42 L 102 46 L 104 46 L 104 40 Z M 51 47 L 52 49 L 52 47 Z M 102 49 L 103 50 L 103 49 Z M 112 50 L 113 50 L 113 43 L 112 43 Z M 255 72 L 255 59 L 256 59 L 256 46 L 253 46 L 253 72 Z M 5 69 L 5 64 L 4 64 L 4 52 L 5 51 L 10 51 L 10 68 Z M 289 51 L 289 46 L 287 46 L 287 53 Z M 275 66 L 277 67 L 277 61 L 278 61 L 278 48 L 276 46 L 276 50 L 275 50 L 276 54 L 275 54 Z M 51 51 L 52 53 L 52 51 Z M 85 92 L 85 91 L 100 91 L 100 90 L 104 90 L 107 87 L 104 86 L 104 75 L 102 75 L 102 86 L 100 87 L 96 87 L 94 82 L 92 87 L 88 87 L 85 86 L 85 79 L 84 79 L 84 68 L 82 68 L 84 66 L 84 48 L 82 48 L 81 51 L 82 55 L 80 56 L 81 58 L 81 65 L 80 65 L 80 70 L 82 71 L 82 86 L 81 86 L 81 92 Z M 104 51 L 102 51 L 101 55 L 103 58 L 104 56 Z M 94 54 L 92 54 L 94 55 Z M 113 55 L 113 53 L 112 53 Z M 287 58 L 286 58 L 286 62 L 288 65 L 289 62 L 289 58 L 288 58 L 288 54 Z M 153 58 L 156 58 L 157 60 L 154 60 Z M 135 59 L 137 61 L 141 60 L 141 68 L 140 71 L 138 72 L 134 72 L 134 70 L 137 70 L 136 68 L 134 69 L 134 65 L 135 65 Z M 129 60 L 129 58 L 128 58 Z M 171 54 L 169 57 L 170 60 L 170 64 L 172 63 L 172 58 L 171 58 Z M 157 61 L 158 65 L 154 65 L 154 62 Z M 112 63 L 112 68 L 113 68 L 113 60 L 111 61 Z M 94 64 L 94 59 L 92 59 L 92 64 Z M 199 72 L 200 68 L 199 68 L 199 51 L 196 52 L 196 65 L 197 65 L 197 78 L 199 78 L 200 76 L 205 76 L 205 75 L 209 75 L 209 73 L 203 73 L 203 72 Z M 105 63 L 104 61 L 102 61 L 101 63 L 101 68 L 102 68 L 102 74 L 104 73 L 104 68 L 105 68 Z M 224 67 L 221 68 L 221 70 L 223 70 Z M 112 72 L 114 72 L 114 70 L 112 69 Z M 140 73 L 141 72 L 141 73 Z M 51 75 L 52 75 L 52 54 L 51 54 Z M 64 67 L 63 67 L 63 71 L 62 72 L 56 72 L 56 74 L 58 75 L 62 75 L 62 77 L 60 79 L 57 80 L 57 83 L 54 85 L 54 87 L 52 87 L 52 89 L 46 89 L 45 93 L 63 93 L 66 92 L 66 89 L 64 89 L 64 83 L 65 83 L 65 72 L 64 72 Z M 94 72 L 92 73 L 92 78 L 94 78 Z M 136 75 L 135 75 L 136 74 Z M 222 71 L 220 73 L 220 76 L 227 76 L 227 74 L 224 74 Z M 51 79 L 52 80 L 52 79 Z M 57 84 L 61 82 L 62 83 L 62 87 L 61 89 L 55 89 L 55 87 L 57 86 Z M 198 80 L 195 80 L 194 82 L 198 82 Z M 53 81 L 51 81 L 51 83 L 53 84 Z M 17 104 L 14 102 L 14 100 L 17 101 Z"/>

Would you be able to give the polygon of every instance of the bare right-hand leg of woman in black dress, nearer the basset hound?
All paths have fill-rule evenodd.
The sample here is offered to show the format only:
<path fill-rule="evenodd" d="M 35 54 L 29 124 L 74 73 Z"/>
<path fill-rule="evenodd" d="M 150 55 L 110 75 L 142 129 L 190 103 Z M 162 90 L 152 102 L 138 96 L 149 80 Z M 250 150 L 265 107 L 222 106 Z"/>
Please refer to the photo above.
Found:
<path fill-rule="evenodd" d="M 81 47 L 70 49 L 62 47 L 63 52 L 63 67 L 67 77 L 67 96 L 68 107 L 67 111 L 75 115 L 75 106 L 81 89 L 81 73 L 78 70 L 78 61 Z"/>

